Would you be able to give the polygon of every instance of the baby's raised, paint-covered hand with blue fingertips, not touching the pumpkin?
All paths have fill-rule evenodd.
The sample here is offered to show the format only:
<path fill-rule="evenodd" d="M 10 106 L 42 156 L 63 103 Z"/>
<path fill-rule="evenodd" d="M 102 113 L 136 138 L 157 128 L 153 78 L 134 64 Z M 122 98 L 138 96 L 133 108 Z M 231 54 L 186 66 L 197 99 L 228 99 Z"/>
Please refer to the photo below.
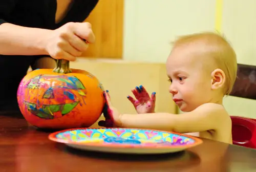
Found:
<path fill-rule="evenodd" d="M 156 93 L 153 92 L 148 95 L 146 89 L 140 85 L 132 90 L 135 98 L 127 96 L 127 98 L 133 103 L 138 114 L 154 113 L 155 112 L 155 102 L 156 102 Z"/>

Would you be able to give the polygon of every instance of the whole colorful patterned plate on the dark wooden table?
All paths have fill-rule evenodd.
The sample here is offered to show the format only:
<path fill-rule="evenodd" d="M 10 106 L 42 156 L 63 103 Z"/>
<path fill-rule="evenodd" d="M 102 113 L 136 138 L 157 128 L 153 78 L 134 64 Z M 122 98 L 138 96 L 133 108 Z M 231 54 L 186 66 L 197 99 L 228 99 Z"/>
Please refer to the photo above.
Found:
<path fill-rule="evenodd" d="M 129 154 L 173 153 L 203 142 L 185 134 L 137 128 L 75 128 L 52 133 L 49 139 L 83 150 Z"/>

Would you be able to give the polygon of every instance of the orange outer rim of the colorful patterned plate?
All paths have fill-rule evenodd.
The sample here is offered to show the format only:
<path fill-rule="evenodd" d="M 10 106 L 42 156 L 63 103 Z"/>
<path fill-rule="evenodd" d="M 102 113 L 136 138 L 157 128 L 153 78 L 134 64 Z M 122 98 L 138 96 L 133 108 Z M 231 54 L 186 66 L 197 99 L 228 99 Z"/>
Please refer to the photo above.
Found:
<path fill-rule="evenodd" d="M 151 145 L 148 145 L 148 146 L 141 146 L 141 145 L 136 145 L 136 144 L 97 144 L 97 143 L 79 143 L 79 142 L 74 142 L 74 141 L 68 141 L 68 140 L 63 140 L 63 139 L 59 139 L 59 138 L 56 138 L 56 135 L 57 134 L 60 134 L 60 133 L 64 133 L 64 132 L 69 132 L 69 131 L 74 131 L 74 130 L 104 130 L 104 129 L 111 129 L 111 130 L 149 130 L 149 131 L 155 131 L 155 132 L 165 132 L 165 133 L 169 133 L 169 134 L 176 134 L 178 136 L 184 136 L 184 137 L 187 137 L 187 138 L 190 138 L 190 139 L 193 139 L 195 142 L 194 143 L 191 143 L 189 145 L 172 145 L 172 146 L 167 146 L 167 145 L 154 145 L 154 146 L 151 146 Z M 57 132 L 53 132 L 51 134 L 48 135 L 48 139 L 51 140 L 51 141 L 54 141 L 54 142 L 58 142 L 58 143 L 65 143 L 65 144 L 77 144 L 77 145 L 83 145 L 83 146 L 103 146 L 103 147 L 113 147 L 113 148 L 131 148 L 131 147 L 134 147 L 134 148 L 160 148 L 160 149 L 169 149 L 169 148 L 190 148 L 190 147 L 194 147 L 194 146 L 197 146 L 199 144 L 202 144 L 203 143 L 203 140 L 200 139 L 200 138 L 197 138 L 195 136 L 190 136 L 190 135 L 186 135 L 186 134 L 182 134 L 182 133 L 177 133 L 177 132 L 172 132 L 172 131 L 162 131 L 162 130 L 155 130 L 155 129 L 148 129 L 148 128 L 135 128 L 135 127 L 128 127 L 128 128 L 120 128 L 120 127 L 92 127 L 92 128 L 89 128 L 89 127 L 77 127 L 77 128 L 69 128 L 69 129 L 65 129 L 65 130 L 60 130 L 60 131 L 57 131 Z"/>

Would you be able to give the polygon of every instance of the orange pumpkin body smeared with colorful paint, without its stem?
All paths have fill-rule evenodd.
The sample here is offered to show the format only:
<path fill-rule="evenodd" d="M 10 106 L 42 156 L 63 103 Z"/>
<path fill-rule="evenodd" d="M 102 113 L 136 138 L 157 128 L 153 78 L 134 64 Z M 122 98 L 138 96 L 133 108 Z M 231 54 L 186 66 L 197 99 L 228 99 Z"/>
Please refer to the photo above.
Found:
<path fill-rule="evenodd" d="M 87 71 L 71 70 L 61 74 L 38 69 L 23 78 L 17 101 L 30 124 L 66 129 L 89 127 L 98 120 L 105 103 L 101 83 Z"/>

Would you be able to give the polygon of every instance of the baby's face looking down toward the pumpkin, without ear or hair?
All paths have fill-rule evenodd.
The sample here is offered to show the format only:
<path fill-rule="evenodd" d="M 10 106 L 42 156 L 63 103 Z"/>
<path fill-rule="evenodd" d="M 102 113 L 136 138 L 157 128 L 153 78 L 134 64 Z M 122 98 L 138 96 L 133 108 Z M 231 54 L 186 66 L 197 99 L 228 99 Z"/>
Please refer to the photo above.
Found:
<path fill-rule="evenodd" d="M 213 101 L 213 67 L 205 67 L 205 59 L 207 58 L 202 58 L 194 49 L 178 47 L 170 53 L 166 61 L 167 75 L 172 82 L 169 92 L 173 94 L 173 100 L 183 112 L 193 111 L 199 105 Z"/>

